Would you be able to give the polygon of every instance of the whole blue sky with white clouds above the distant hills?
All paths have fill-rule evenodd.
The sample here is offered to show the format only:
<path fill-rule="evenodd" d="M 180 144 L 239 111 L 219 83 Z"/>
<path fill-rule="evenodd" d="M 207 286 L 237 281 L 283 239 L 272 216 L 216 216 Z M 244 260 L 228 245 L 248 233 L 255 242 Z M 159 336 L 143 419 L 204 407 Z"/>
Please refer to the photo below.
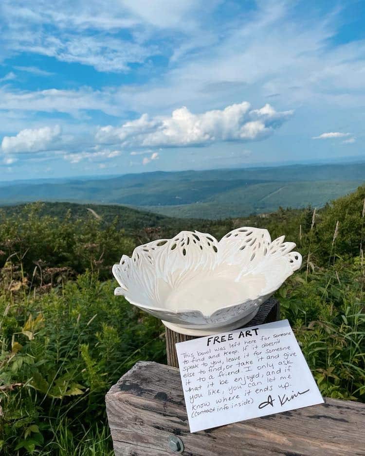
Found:
<path fill-rule="evenodd" d="M 364 106 L 364 1 L 0 5 L 0 180 L 365 158 Z"/>

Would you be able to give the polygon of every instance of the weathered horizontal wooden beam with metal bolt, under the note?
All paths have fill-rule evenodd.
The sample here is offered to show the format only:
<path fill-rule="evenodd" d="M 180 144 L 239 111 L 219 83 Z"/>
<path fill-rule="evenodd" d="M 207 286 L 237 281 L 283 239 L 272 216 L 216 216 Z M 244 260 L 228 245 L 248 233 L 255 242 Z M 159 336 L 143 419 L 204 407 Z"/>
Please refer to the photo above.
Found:
<path fill-rule="evenodd" d="M 365 404 L 324 404 L 190 434 L 177 368 L 138 362 L 106 396 L 115 456 L 365 455 Z"/>

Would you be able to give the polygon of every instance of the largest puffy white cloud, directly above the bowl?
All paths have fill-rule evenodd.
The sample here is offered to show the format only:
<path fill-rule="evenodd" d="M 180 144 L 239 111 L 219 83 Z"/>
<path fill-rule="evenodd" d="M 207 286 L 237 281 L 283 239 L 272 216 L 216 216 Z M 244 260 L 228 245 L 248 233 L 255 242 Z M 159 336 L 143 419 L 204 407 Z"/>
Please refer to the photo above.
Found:
<path fill-rule="evenodd" d="M 260 140 L 271 135 L 292 114 L 292 110 L 277 112 L 270 105 L 250 110 L 248 102 L 202 114 L 193 114 L 183 106 L 169 117 L 150 118 L 143 114 L 120 127 L 100 127 L 96 140 L 125 147 L 181 147 Z"/>

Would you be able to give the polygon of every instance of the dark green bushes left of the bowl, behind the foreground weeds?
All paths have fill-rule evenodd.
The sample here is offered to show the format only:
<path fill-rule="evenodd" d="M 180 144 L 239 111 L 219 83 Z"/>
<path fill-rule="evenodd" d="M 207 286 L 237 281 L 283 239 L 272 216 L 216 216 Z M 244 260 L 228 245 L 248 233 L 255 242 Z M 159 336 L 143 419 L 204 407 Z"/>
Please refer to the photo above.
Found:
<path fill-rule="evenodd" d="M 116 228 L 116 221 L 103 225 L 90 213 L 73 220 L 70 212 L 59 220 L 39 216 L 42 207 L 41 203 L 28 205 L 0 223 L 0 265 L 7 259 L 21 263 L 28 278 L 33 276 L 41 284 L 43 279 L 48 282 L 44 274 L 56 280 L 86 269 L 110 278 L 111 265 L 135 246 L 134 239 Z"/>

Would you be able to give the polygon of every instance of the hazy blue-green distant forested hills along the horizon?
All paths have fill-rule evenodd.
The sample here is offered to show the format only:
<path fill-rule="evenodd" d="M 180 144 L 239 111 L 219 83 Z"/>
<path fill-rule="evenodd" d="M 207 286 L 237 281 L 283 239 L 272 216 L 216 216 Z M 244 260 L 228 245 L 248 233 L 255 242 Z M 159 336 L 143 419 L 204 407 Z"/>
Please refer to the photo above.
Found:
<path fill-rule="evenodd" d="M 28 201 L 119 204 L 173 217 L 217 219 L 322 207 L 364 183 L 365 163 L 153 172 L 0 183 L 0 205 Z"/>

